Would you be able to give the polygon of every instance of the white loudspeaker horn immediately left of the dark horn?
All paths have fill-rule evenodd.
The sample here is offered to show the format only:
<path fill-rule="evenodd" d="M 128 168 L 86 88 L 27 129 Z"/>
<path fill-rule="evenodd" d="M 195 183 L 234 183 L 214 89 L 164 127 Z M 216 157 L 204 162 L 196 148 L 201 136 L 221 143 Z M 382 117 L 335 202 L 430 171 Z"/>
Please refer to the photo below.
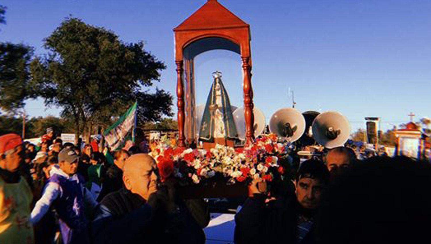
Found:
<path fill-rule="evenodd" d="M 281 108 L 272 114 L 269 131 L 289 142 L 299 139 L 305 131 L 305 118 L 294 108 Z"/>

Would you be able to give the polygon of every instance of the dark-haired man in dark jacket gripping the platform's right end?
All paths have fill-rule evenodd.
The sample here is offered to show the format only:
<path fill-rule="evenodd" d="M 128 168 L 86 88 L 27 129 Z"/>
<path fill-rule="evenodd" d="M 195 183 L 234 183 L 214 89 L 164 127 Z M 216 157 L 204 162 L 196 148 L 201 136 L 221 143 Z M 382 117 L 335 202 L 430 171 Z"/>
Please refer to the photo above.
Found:
<path fill-rule="evenodd" d="M 235 243 L 315 243 L 315 211 L 329 182 L 325 165 L 317 160 L 303 162 L 294 182 L 295 193 L 286 192 L 268 203 L 257 182 L 249 186 L 251 197 L 235 215 Z"/>

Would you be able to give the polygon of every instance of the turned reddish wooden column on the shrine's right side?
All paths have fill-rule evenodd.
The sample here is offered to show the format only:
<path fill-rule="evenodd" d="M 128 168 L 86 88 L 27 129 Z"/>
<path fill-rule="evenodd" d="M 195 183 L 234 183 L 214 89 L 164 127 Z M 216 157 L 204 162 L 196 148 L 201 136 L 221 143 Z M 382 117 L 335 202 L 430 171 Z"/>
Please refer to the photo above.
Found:
<path fill-rule="evenodd" d="M 251 87 L 250 57 L 241 57 L 243 68 L 244 118 L 246 144 L 254 140 L 253 88 Z"/>

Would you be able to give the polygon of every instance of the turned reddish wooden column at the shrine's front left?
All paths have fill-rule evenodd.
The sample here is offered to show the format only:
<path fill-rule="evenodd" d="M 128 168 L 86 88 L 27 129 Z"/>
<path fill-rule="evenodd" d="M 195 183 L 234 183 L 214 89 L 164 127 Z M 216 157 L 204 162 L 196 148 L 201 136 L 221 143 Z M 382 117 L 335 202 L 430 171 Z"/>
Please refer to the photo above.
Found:
<path fill-rule="evenodd" d="M 177 65 L 177 106 L 178 106 L 178 146 L 185 147 L 184 143 L 184 80 L 183 61 L 175 61 Z"/>

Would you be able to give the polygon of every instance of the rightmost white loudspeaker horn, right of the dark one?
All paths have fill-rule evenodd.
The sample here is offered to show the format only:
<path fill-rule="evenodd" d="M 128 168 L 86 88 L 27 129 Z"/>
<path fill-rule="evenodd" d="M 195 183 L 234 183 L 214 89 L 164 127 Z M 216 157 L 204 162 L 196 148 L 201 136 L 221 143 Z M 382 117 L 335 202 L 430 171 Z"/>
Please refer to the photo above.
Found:
<path fill-rule="evenodd" d="M 343 146 L 349 139 L 349 121 L 338 112 L 324 112 L 314 119 L 312 132 L 316 142 L 325 148 Z"/>

